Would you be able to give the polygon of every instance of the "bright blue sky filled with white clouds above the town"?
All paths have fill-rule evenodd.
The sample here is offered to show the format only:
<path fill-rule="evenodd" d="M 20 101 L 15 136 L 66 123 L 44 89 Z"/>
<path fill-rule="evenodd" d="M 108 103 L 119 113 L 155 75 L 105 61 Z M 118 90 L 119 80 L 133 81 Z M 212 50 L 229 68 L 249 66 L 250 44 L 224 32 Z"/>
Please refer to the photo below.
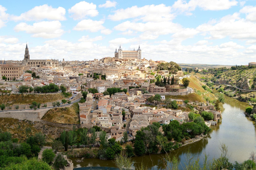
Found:
<path fill-rule="evenodd" d="M 0 58 L 92 60 L 115 49 L 142 58 L 256 62 L 256 0 L 0 1 Z"/>

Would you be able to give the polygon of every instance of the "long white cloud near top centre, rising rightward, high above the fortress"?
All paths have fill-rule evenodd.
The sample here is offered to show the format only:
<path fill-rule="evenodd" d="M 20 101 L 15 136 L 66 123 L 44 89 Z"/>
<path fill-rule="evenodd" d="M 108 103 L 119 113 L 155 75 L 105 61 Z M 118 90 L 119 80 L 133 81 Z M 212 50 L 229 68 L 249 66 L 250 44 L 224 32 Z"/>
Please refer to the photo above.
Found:
<path fill-rule="evenodd" d="M 108 18 L 113 21 L 120 21 L 129 18 L 137 18 L 143 22 L 163 22 L 170 21 L 175 16 L 171 13 L 171 7 L 160 5 L 145 5 L 143 7 L 132 6 L 126 9 L 118 9 Z"/>

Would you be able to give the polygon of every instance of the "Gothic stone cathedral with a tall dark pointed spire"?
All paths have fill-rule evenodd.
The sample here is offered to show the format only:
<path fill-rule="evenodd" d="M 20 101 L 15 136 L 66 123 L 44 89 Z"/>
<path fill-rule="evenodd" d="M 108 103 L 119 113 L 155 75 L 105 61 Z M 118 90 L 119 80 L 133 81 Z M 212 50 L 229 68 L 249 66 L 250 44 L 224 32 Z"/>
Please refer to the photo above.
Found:
<path fill-rule="evenodd" d="M 57 67 L 59 65 L 59 60 L 55 59 L 41 59 L 41 60 L 31 60 L 28 50 L 28 44 L 25 48 L 24 59 L 22 60 L 23 66 L 30 67 Z"/>

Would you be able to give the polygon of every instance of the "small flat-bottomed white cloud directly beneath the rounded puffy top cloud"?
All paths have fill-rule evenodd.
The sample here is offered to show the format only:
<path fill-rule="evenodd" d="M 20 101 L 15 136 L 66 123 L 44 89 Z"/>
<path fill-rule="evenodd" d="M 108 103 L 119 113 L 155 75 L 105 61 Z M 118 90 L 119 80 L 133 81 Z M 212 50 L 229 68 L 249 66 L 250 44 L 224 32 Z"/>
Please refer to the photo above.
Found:
<path fill-rule="evenodd" d="M 80 21 L 73 30 L 83 31 L 88 30 L 90 32 L 98 32 L 100 30 L 104 30 L 105 27 L 102 26 L 104 21 L 93 21 L 91 19 Z"/>

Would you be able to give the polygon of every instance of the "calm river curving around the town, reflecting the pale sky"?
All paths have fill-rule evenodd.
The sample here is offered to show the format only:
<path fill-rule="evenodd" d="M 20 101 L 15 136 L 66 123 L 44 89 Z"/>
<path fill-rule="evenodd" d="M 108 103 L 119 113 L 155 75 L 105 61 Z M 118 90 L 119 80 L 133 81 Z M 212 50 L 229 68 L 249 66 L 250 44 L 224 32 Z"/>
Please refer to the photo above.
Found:
<path fill-rule="evenodd" d="M 245 117 L 244 111 L 248 106 L 245 102 L 239 102 L 230 97 L 225 97 L 224 111 L 222 112 L 222 122 L 217 126 L 211 126 L 212 131 L 202 140 L 182 146 L 171 154 L 176 154 L 181 164 L 185 162 L 185 156 L 188 150 L 193 156 L 199 156 L 203 159 L 204 153 L 209 154 L 209 159 L 219 157 L 220 143 L 225 143 L 228 146 L 228 155 L 230 162 L 243 162 L 249 159 L 251 151 L 256 151 L 256 130 L 254 122 Z M 135 166 L 143 164 L 147 165 L 148 169 L 164 169 L 163 157 L 165 154 L 151 154 L 141 157 L 133 157 L 136 163 Z M 100 160 L 97 158 L 84 159 L 83 162 L 77 163 L 77 158 L 71 158 L 74 167 L 87 166 L 108 166 L 115 167 L 112 160 Z"/>

